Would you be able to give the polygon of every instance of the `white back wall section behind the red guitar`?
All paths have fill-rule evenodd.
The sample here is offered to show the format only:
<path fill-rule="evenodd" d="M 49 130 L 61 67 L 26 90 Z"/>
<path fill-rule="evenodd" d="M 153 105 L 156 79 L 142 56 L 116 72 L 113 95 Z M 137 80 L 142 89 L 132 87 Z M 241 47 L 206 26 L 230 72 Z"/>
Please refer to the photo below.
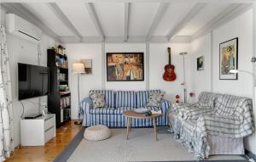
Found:
<path fill-rule="evenodd" d="M 165 65 L 168 64 L 167 47 L 172 49 L 172 64 L 175 66 L 177 75 L 176 81 L 164 81 L 163 74 Z M 181 52 L 190 53 L 189 43 L 166 43 L 166 44 L 150 44 L 149 46 L 149 88 L 162 89 L 166 92 L 165 98 L 174 101 L 175 95 L 180 95 L 183 99 L 183 57 L 179 55 Z M 185 56 L 186 82 L 189 84 L 189 60 Z"/>

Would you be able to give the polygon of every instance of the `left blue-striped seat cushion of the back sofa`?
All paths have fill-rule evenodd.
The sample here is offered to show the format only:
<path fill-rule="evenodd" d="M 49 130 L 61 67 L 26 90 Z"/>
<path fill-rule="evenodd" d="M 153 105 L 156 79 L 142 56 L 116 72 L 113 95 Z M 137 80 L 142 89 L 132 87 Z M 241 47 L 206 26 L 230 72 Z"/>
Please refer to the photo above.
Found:
<path fill-rule="evenodd" d="M 124 111 L 131 110 L 133 108 L 131 107 L 123 107 L 119 109 L 115 108 L 96 108 L 96 109 L 90 109 L 91 115 L 122 115 Z"/>

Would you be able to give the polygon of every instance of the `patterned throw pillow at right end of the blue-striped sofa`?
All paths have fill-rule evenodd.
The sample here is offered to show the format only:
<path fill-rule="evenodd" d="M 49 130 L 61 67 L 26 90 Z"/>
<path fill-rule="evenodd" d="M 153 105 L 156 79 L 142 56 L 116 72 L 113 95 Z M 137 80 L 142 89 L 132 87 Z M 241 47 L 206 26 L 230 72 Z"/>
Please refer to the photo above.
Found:
<path fill-rule="evenodd" d="M 149 92 L 148 107 L 160 108 L 160 103 L 164 97 L 164 92 Z"/>

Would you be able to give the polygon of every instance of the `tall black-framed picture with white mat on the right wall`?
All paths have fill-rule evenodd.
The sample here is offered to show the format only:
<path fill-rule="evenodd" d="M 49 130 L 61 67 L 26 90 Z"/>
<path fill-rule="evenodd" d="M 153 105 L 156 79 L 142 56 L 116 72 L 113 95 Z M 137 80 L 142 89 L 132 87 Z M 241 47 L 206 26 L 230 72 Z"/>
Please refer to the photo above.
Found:
<path fill-rule="evenodd" d="M 219 44 L 219 80 L 237 80 L 230 70 L 238 69 L 238 37 Z"/>

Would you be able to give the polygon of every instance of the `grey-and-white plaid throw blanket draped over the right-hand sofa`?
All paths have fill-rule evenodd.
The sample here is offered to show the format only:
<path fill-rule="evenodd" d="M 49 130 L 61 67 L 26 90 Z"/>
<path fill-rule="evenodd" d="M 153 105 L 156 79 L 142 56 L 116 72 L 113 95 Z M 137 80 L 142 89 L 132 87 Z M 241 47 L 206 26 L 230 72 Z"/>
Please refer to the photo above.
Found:
<path fill-rule="evenodd" d="M 172 107 L 172 127 L 178 137 L 190 143 L 198 159 L 209 155 L 207 135 L 238 138 L 254 131 L 250 98 L 201 92 L 198 103 Z"/>

